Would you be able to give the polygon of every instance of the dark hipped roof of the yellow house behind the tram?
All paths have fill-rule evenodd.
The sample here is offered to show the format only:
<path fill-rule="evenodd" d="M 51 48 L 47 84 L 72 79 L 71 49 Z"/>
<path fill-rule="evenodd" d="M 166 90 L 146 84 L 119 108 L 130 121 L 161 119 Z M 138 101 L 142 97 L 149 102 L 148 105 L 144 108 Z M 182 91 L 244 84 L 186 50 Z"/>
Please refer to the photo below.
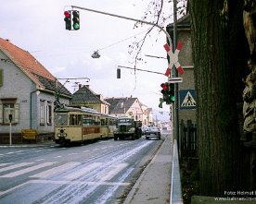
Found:
<path fill-rule="evenodd" d="M 83 86 L 79 90 L 75 91 L 72 96 L 73 104 L 82 104 L 82 103 L 105 103 L 108 102 L 101 100 L 100 94 L 96 94 L 93 90 L 90 90 L 88 86 Z"/>

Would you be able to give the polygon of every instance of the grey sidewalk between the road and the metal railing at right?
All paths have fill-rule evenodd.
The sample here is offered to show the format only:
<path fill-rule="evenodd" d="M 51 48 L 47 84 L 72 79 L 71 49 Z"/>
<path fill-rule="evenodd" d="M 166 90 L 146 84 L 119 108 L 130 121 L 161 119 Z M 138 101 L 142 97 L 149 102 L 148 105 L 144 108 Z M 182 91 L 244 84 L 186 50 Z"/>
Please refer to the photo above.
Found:
<path fill-rule="evenodd" d="M 123 204 L 170 203 L 172 138 L 168 134 L 160 150 L 140 175 Z"/>

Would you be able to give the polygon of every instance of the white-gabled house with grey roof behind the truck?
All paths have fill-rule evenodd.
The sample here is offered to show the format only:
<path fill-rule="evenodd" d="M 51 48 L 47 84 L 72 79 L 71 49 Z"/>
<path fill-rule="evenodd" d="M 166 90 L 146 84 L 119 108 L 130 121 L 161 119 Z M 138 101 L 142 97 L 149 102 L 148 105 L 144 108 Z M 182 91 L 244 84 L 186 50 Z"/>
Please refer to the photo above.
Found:
<path fill-rule="evenodd" d="M 115 114 L 120 117 L 134 117 L 135 121 L 143 121 L 143 110 L 141 108 L 138 98 L 122 97 L 122 98 L 108 98 L 109 114 Z"/>

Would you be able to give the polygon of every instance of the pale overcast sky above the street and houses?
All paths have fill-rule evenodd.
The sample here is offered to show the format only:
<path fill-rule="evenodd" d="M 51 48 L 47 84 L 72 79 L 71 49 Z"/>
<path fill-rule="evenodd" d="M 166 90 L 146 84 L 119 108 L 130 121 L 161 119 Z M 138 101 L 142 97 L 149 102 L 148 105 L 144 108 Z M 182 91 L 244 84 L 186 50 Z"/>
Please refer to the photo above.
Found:
<path fill-rule="evenodd" d="M 8 39 L 30 52 L 57 78 L 90 78 L 66 82 L 60 80 L 73 93 L 77 83 L 88 84 L 91 90 L 109 97 L 137 97 L 147 107 L 169 112 L 170 106 L 160 103 L 160 84 L 164 75 L 121 68 L 134 67 L 134 54 L 130 45 L 140 41 L 148 25 L 134 29 L 134 21 L 114 18 L 93 12 L 80 11 L 80 30 L 65 30 L 64 11 L 70 6 L 81 6 L 129 18 L 141 19 L 151 0 L 11 0 L 0 7 L 0 37 Z M 164 10 L 171 15 L 172 4 L 165 1 Z M 167 21 L 166 26 L 171 21 Z M 165 73 L 166 59 L 146 55 L 166 56 L 163 45 L 166 35 L 153 29 L 143 46 L 143 61 L 136 67 Z M 99 51 L 100 58 L 92 58 Z"/>

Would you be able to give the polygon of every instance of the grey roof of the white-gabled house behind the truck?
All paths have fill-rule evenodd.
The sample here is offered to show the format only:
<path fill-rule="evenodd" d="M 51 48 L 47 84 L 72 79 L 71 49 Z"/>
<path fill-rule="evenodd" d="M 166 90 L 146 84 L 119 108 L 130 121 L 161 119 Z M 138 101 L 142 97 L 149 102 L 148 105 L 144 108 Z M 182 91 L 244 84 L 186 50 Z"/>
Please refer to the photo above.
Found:
<path fill-rule="evenodd" d="M 108 98 L 105 101 L 110 103 L 109 114 L 124 114 L 126 113 L 137 98 L 122 97 L 122 98 Z"/>

